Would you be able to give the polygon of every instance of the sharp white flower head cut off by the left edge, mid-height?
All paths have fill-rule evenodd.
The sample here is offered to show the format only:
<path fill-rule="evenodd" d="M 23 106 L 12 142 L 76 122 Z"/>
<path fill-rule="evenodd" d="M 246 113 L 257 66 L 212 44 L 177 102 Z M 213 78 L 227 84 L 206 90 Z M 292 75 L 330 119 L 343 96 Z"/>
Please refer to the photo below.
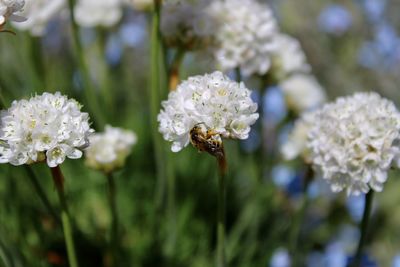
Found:
<path fill-rule="evenodd" d="M 80 158 L 93 132 L 81 105 L 60 93 L 14 101 L 2 111 L 0 162 L 13 165 L 47 160 L 49 167 L 66 157 Z"/>

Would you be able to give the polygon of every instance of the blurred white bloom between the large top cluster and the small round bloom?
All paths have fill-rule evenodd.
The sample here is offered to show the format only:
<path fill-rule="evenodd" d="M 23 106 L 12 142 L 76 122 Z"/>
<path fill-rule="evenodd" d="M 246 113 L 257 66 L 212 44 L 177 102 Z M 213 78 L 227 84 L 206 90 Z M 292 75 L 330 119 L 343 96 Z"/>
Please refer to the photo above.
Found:
<path fill-rule="evenodd" d="M 310 65 L 301 49 L 299 41 L 286 35 L 278 34 L 274 38 L 276 48 L 273 51 L 273 71 L 277 77 L 286 77 L 296 72 L 310 72 Z"/>

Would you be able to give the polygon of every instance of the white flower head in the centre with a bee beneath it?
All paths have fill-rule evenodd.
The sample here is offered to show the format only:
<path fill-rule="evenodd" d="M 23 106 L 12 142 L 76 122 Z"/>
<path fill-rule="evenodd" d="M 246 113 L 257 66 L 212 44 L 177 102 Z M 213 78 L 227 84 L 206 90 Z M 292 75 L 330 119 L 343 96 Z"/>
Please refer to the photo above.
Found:
<path fill-rule="evenodd" d="M 189 144 L 189 132 L 198 124 L 224 138 L 246 139 L 259 116 L 250 94 L 221 72 L 191 77 L 163 101 L 159 130 L 174 152 Z"/>

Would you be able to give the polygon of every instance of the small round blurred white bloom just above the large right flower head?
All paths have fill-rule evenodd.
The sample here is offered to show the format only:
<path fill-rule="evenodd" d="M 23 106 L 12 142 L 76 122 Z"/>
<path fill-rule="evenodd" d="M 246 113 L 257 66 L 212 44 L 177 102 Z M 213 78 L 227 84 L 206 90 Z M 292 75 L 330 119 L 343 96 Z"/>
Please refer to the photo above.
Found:
<path fill-rule="evenodd" d="M 289 76 L 280 87 L 288 107 L 297 113 L 316 108 L 326 101 L 325 91 L 311 75 Z"/>

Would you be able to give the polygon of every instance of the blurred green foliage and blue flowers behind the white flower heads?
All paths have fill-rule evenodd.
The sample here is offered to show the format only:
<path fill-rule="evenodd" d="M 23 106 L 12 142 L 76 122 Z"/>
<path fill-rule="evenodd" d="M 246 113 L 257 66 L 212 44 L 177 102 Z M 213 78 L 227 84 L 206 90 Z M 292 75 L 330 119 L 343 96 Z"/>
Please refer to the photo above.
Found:
<path fill-rule="evenodd" d="M 400 104 L 400 1 L 275 0 L 282 31 L 302 44 L 313 73 L 329 99 L 354 91 L 375 90 Z M 217 178 L 212 157 L 192 147 L 173 154 L 175 192 L 156 183 L 151 140 L 150 13 L 126 8 L 112 28 L 82 28 L 90 73 L 101 96 L 96 116 L 138 136 L 126 167 L 115 173 L 122 228 L 121 266 L 213 266 Z M 14 99 L 60 91 L 84 103 L 71 49 L 67 18 L 53 20 L 45 36 L 0 34 L 0 95 L 6 107 Z M 204 57 L 189 54 L 181 78 L 213 71 Z M 279 88 L 258 92 L 264 116 L 249 140 L 228 141 L 227 254 L 230 266 L 289 266 L 289 232 L 302 196 L 305 167 L 284 162 L 279 145 L 292 121 Z M 108 92 L 108 93 L 107 93 Z M 166 97 L 166 94 L 163 98 Z M 96 130 L 103 130 L 97 128 Z M 270 129 L 262 136 L 259 129 Z M 167 142 L 163 142 L 168 147 Z M 262 160 L 263 149 L 270 157 Z M 56 192 L 46 166 L 33 170 L 52 205 Z M 75 225 L 81 266 L 107 266 L 110 212 L 106 178 L 83 160 L 62 165 Z M 168 186 L 169 185 L 169 186 Z M 392 172 L 383 193 L 376 194 L 365 266 L 400 266 L 400 181 Z M 169 192 L 171 193 L 171 192 Z M 346 266 L 355 250 L 364 198 L 332 194 L 320 180 L 307 191 L 310 203 L 297 248 L 305 266 Z M 174 196 L 175 201 L 167 200 Z M 169 203 L 167 205 L 167 203 Z M 172 203 L 172 204 L 171 204 Z M 175 204 L 174 204 L 175 203 Z M 0 266 L 67 266 L 62 228 L 44 207 L 26 169 L 0 166 Z M 364 266 L 364 265 L 363 265 Z"/>

